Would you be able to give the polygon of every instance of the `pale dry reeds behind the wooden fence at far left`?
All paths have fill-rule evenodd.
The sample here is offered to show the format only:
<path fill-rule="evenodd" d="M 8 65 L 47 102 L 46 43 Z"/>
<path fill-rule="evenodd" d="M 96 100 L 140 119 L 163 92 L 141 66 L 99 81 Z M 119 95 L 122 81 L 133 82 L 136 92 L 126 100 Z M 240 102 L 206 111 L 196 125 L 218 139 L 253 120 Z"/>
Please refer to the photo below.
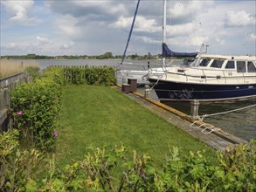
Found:
<path fill-rule="evenodd" d="M 39 67 L 36 60 L 0 59 L 0 79 L 24 72 L 27 67 Z"/>

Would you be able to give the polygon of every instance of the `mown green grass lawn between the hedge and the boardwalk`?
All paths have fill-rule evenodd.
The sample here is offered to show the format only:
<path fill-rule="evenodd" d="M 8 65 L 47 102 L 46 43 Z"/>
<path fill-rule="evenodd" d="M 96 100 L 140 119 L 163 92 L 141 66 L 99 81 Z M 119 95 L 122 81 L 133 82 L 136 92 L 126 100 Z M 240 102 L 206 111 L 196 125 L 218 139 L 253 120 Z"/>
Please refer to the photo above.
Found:
<path fill-rule="evenodd" d="M 215 156 L 211 147 L 113 87 L 65 86 L 59 124 L 56 153 L 60 165 L 82 159 L 87 147 L 121 143 L 139 154 L 149 154 L 158 163 L 173 146 L 180 147 L 181 153 L 205 150 Z"/>

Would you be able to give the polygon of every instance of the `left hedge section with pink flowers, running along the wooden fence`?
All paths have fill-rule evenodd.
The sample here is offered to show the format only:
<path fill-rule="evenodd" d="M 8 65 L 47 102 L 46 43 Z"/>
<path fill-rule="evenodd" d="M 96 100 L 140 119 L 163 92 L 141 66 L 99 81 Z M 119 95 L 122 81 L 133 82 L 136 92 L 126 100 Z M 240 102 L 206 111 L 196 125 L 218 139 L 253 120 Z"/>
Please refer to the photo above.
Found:
<path fill-rule="evenodd" d="M 24 145 L 54 150 L 59 116 L 62 71 L 50 69 L 40 79 L 22 84 L 11 92 L 13 127 Z"/>

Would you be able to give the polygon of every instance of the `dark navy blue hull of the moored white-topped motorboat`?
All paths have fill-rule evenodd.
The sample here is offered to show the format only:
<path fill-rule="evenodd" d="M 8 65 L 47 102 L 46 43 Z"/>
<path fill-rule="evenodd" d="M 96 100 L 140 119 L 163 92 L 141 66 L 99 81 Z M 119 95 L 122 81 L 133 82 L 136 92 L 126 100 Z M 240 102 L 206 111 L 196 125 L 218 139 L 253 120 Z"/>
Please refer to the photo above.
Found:
<path fill-rule="evenodd" d="M 154 85 L 157 97 L 163 101 L 190 101 L 193 99 L 218 101 L 256 97 L 256 83 L 246 85 L 211 85 L 172 82 L 162 79 L 149 79 L 149 82 Z"/>

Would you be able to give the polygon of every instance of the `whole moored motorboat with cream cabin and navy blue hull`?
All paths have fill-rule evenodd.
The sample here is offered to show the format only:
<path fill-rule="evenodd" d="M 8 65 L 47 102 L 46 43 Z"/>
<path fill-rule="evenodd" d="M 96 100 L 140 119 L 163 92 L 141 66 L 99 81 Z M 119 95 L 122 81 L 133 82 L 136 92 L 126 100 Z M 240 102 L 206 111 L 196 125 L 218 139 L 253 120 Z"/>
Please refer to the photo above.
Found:
<path fill-rule="evenodd" d="M 160 100 L 216 101 L 256 97 L 256 57 L 199 54 L 189 66 L 149 77 Z"/>

